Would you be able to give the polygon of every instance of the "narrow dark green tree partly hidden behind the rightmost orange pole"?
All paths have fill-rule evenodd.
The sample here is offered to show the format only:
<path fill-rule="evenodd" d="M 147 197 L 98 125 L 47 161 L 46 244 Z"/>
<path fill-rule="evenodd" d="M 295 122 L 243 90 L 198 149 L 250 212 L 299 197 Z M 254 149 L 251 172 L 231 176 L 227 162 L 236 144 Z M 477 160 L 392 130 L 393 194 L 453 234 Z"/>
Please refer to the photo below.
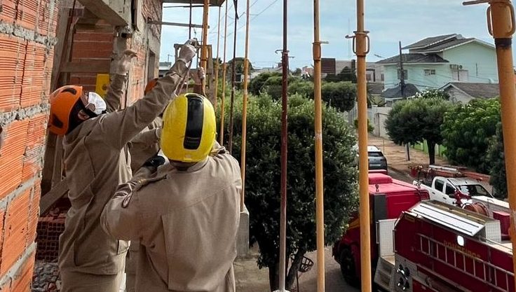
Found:
<path fill-rule="evenodd" d="M 491 137 L 487 160 L 491 161 L 489 183 L 493 186 L 494 195 L 499 199 L 507 197 L 507 176 L 505 174 L 505 153 L 503 152 L 503 132 L 502 123 L 496 125 L 496 136 Z"/>

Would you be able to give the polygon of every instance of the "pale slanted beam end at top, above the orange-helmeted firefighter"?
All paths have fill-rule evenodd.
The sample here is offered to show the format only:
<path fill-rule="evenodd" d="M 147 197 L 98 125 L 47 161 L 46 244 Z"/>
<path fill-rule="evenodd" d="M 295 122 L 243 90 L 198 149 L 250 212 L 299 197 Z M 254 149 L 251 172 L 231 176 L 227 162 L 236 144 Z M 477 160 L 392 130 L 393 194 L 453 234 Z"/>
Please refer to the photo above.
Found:
<path fill-rule="evenodd" d="M 102 20 L 106 20 L 111 25 L 125 27 L 131 23 L 130 11 L 126 11 L 125 7 L 118 7 L 121 1 L 103 1 L 103 0 L 79 0 L 79 2 Z M 118 13 L 123 11 L 123 13 Z"/>

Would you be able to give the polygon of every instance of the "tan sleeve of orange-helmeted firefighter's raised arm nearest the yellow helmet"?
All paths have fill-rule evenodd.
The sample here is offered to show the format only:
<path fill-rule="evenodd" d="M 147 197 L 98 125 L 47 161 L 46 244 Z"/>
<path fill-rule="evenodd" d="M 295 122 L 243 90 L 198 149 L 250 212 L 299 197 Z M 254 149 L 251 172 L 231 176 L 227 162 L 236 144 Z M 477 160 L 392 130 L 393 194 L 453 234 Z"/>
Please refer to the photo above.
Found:
<path fill-rule="evenodd" d="M 144 127 L 149 126 L 174 98 L 173 92 L 188 70 L 183 62 L 176 63 L 174 67 L 176 74 L 160 78 L 156 87 L 132 106 L 108 113 L 92 134 L 104 137 L 104 143 L 116 149 L 125 146 Z"/>

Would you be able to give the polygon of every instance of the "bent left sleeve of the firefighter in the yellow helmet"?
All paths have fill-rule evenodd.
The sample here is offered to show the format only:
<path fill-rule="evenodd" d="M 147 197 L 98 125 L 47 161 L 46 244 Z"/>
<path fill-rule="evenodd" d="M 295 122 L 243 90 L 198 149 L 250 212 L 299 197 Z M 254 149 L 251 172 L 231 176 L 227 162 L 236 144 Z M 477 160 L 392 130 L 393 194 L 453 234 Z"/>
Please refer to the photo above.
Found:
<path fill-rule="evenodd" d="M 142 217 L 138 208 L 134 182 L 118 186 L 114 197 L 104 207 L 100 225 L 107 234 L 116 239 L 136 240 L 140 238 Z"/>

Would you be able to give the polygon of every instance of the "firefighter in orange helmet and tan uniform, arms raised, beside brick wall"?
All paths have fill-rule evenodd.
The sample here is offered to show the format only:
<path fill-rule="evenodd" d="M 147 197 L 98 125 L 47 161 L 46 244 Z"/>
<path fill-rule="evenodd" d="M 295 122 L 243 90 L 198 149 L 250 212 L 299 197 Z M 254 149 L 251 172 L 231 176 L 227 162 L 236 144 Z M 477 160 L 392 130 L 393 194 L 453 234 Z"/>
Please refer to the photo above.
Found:
<path fill-rule="evenodd" d="M 170 74 L 144 98 L 123 111 L 102 114 L 106 104 L 95 92 L 67 85 L 50 95 L 49 130 L 63 138 L 63 161 L 69 179 L 64 232 L 60 236 L 62 292 L 118 291 L 128 242 L 100 228 L 100 214 L 116 186 L 131 179 L 127 144 L 163 111 L 188 71 L 196 50 L 183 46 Z M 126 55 L 109 90 L 123 94 L 130 59 Z"/>

